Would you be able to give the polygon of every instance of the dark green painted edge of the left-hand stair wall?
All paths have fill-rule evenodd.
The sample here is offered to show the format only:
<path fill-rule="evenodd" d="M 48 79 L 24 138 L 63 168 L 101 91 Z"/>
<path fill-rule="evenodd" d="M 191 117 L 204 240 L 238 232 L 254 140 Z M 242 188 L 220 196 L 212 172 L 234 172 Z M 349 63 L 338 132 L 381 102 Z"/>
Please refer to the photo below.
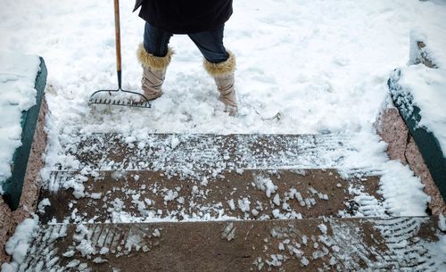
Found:
<path fill-rule="evenodd" d="M 28 166 L 29 153 L 36 131 L 38 114 L 40 106 L 45 95 L 46 76 L 45 61 L 40 58 L 40 70 L 37 72 L 35 88 L 37 90 L 36 105 L 29 111 L 24 111 L 21 116 L 21 146 L 16 149 L 13 156 L 12 177 L 8 178 L 3 185 L 4 202 L 8 204 L 11 210 L 16 210 L 21 201 L 21 192 L 25 181 L 26 170 Z"/>

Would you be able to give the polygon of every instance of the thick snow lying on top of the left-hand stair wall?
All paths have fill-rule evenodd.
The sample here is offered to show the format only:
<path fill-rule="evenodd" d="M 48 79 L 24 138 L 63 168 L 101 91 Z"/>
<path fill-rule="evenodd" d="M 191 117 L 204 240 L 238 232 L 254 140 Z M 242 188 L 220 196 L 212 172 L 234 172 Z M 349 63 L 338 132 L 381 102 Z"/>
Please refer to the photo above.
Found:
<path fill-rule="evenodd" d="M 37 56 L 0 49 L 0 191 L 11 177 L 12 156 L 21 146 L 21 113 L 36 104 Z M 0 192 L 1 193 L 1 192 Z"/>

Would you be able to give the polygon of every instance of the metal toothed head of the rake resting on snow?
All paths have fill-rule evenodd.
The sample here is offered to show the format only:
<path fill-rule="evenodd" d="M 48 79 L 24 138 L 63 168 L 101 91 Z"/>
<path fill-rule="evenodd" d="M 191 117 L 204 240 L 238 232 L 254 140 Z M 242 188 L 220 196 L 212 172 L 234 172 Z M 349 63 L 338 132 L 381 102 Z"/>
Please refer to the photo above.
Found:
<path fill-rule="evenodd" d="M 151 108 L 152 104 L 145 95 L 136 92 L 117 90 L 99 90 L 90 95 L 89 104 L 103 104 L 115 106 L 128 106 L 136 108 Z"/>

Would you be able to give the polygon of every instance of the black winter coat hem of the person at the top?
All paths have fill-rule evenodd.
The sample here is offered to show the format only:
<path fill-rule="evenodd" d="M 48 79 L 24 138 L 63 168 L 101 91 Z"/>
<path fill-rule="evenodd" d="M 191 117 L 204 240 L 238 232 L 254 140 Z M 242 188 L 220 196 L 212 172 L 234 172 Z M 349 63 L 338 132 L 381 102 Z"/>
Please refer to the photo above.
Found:
<path fill-rule="evenodd" d="M 158 29 L 190 34 L 219 29 L 232 15 L 232 0 L 136 0 L 134 12 Z"/>

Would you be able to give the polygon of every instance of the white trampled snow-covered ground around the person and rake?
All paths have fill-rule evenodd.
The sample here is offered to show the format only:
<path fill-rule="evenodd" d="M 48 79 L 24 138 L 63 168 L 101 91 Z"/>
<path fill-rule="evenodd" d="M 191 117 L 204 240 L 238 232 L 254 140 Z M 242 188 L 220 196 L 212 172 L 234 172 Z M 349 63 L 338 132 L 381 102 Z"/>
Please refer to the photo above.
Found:
<path fill-rule="evenodd" d="M 123 87 L 139 90 L 135 51 L 144 21 L 131 13 L 133 4 L 121 3 Z M 48 168 L 70 167 L 60 144 L 77 133 L 355 133 L 359 155 L 351 161 L 390 173 L 392 188 L 419 184 L 406 167 L 388 161 L 373 123 L 390 72 L 409 60 L 410 29 L 444 28 L 445 1 L 237 0 L 234 8 L 225 43 L 238 62 L 237 118 L 222 111 L 186 36 L 171 39 L 177 54 L 153 109 L 91 109 L 89 95 L 117 87 L 111 1 L 5 0 L 0 48 L 41 55 L 48 67 Z M 419 195 L 421 186 L 407 190 Z M 425 207 L 425 197 L 417 199 L 415 214 Z"/>

